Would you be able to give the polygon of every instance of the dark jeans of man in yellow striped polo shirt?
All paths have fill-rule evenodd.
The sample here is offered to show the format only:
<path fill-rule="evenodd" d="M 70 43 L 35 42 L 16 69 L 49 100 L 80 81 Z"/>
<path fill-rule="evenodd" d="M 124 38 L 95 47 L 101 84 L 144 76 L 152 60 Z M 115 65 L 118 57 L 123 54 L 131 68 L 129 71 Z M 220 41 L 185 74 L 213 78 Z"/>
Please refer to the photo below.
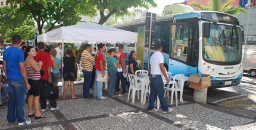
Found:
<path fill-rule="evenodd" d="M 83 98 L 90 97 L 90 83 L 92 83 L 92 71 L 83 70 Z"/>

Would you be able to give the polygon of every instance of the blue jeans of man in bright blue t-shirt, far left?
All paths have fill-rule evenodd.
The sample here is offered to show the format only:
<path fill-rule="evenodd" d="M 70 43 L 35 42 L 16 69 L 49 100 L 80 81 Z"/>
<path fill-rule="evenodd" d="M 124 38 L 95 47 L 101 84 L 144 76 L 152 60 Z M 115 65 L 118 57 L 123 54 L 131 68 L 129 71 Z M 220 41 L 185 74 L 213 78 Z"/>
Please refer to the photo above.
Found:
<path fill-rule="evenodd" d="M 26 85 L 24 80 L 8 80 L 8 111 L 7 120 L 9 123 L 25 122 L 24 106 L 26 99 Z"/>

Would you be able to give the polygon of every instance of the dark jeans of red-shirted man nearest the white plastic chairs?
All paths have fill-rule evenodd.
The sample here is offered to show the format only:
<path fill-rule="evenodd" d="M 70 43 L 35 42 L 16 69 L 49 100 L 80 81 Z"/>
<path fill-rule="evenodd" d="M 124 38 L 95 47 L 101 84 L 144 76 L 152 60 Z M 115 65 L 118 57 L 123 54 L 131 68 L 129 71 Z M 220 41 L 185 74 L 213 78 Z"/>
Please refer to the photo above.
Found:
<path fill-rule="evenodd" d="M 115 92 L 119 92 L 119 85 L 120 85 L 120 80 L 121 80 L 121 86 L 123 88 L 123 92 L 122 93 L 126 93 L 126 83 L 127 83 L 127 79 L 124 77 L 123 72 L 117 72 L 117 80 L 115 82 Z"/>

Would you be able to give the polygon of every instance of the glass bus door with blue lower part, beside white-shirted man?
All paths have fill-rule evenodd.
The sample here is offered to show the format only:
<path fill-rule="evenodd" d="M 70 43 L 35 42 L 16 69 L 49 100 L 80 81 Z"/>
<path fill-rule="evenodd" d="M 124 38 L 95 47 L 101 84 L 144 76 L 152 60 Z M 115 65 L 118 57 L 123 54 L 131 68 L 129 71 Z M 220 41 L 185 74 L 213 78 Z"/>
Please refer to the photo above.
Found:
<path fill-rule="evenodd" d="M 168 71 L 171 75 L 184 74 L 189 76 L 188 51 L 189 51 L 189 24 L 170 24 L 170 55 Z"/>

